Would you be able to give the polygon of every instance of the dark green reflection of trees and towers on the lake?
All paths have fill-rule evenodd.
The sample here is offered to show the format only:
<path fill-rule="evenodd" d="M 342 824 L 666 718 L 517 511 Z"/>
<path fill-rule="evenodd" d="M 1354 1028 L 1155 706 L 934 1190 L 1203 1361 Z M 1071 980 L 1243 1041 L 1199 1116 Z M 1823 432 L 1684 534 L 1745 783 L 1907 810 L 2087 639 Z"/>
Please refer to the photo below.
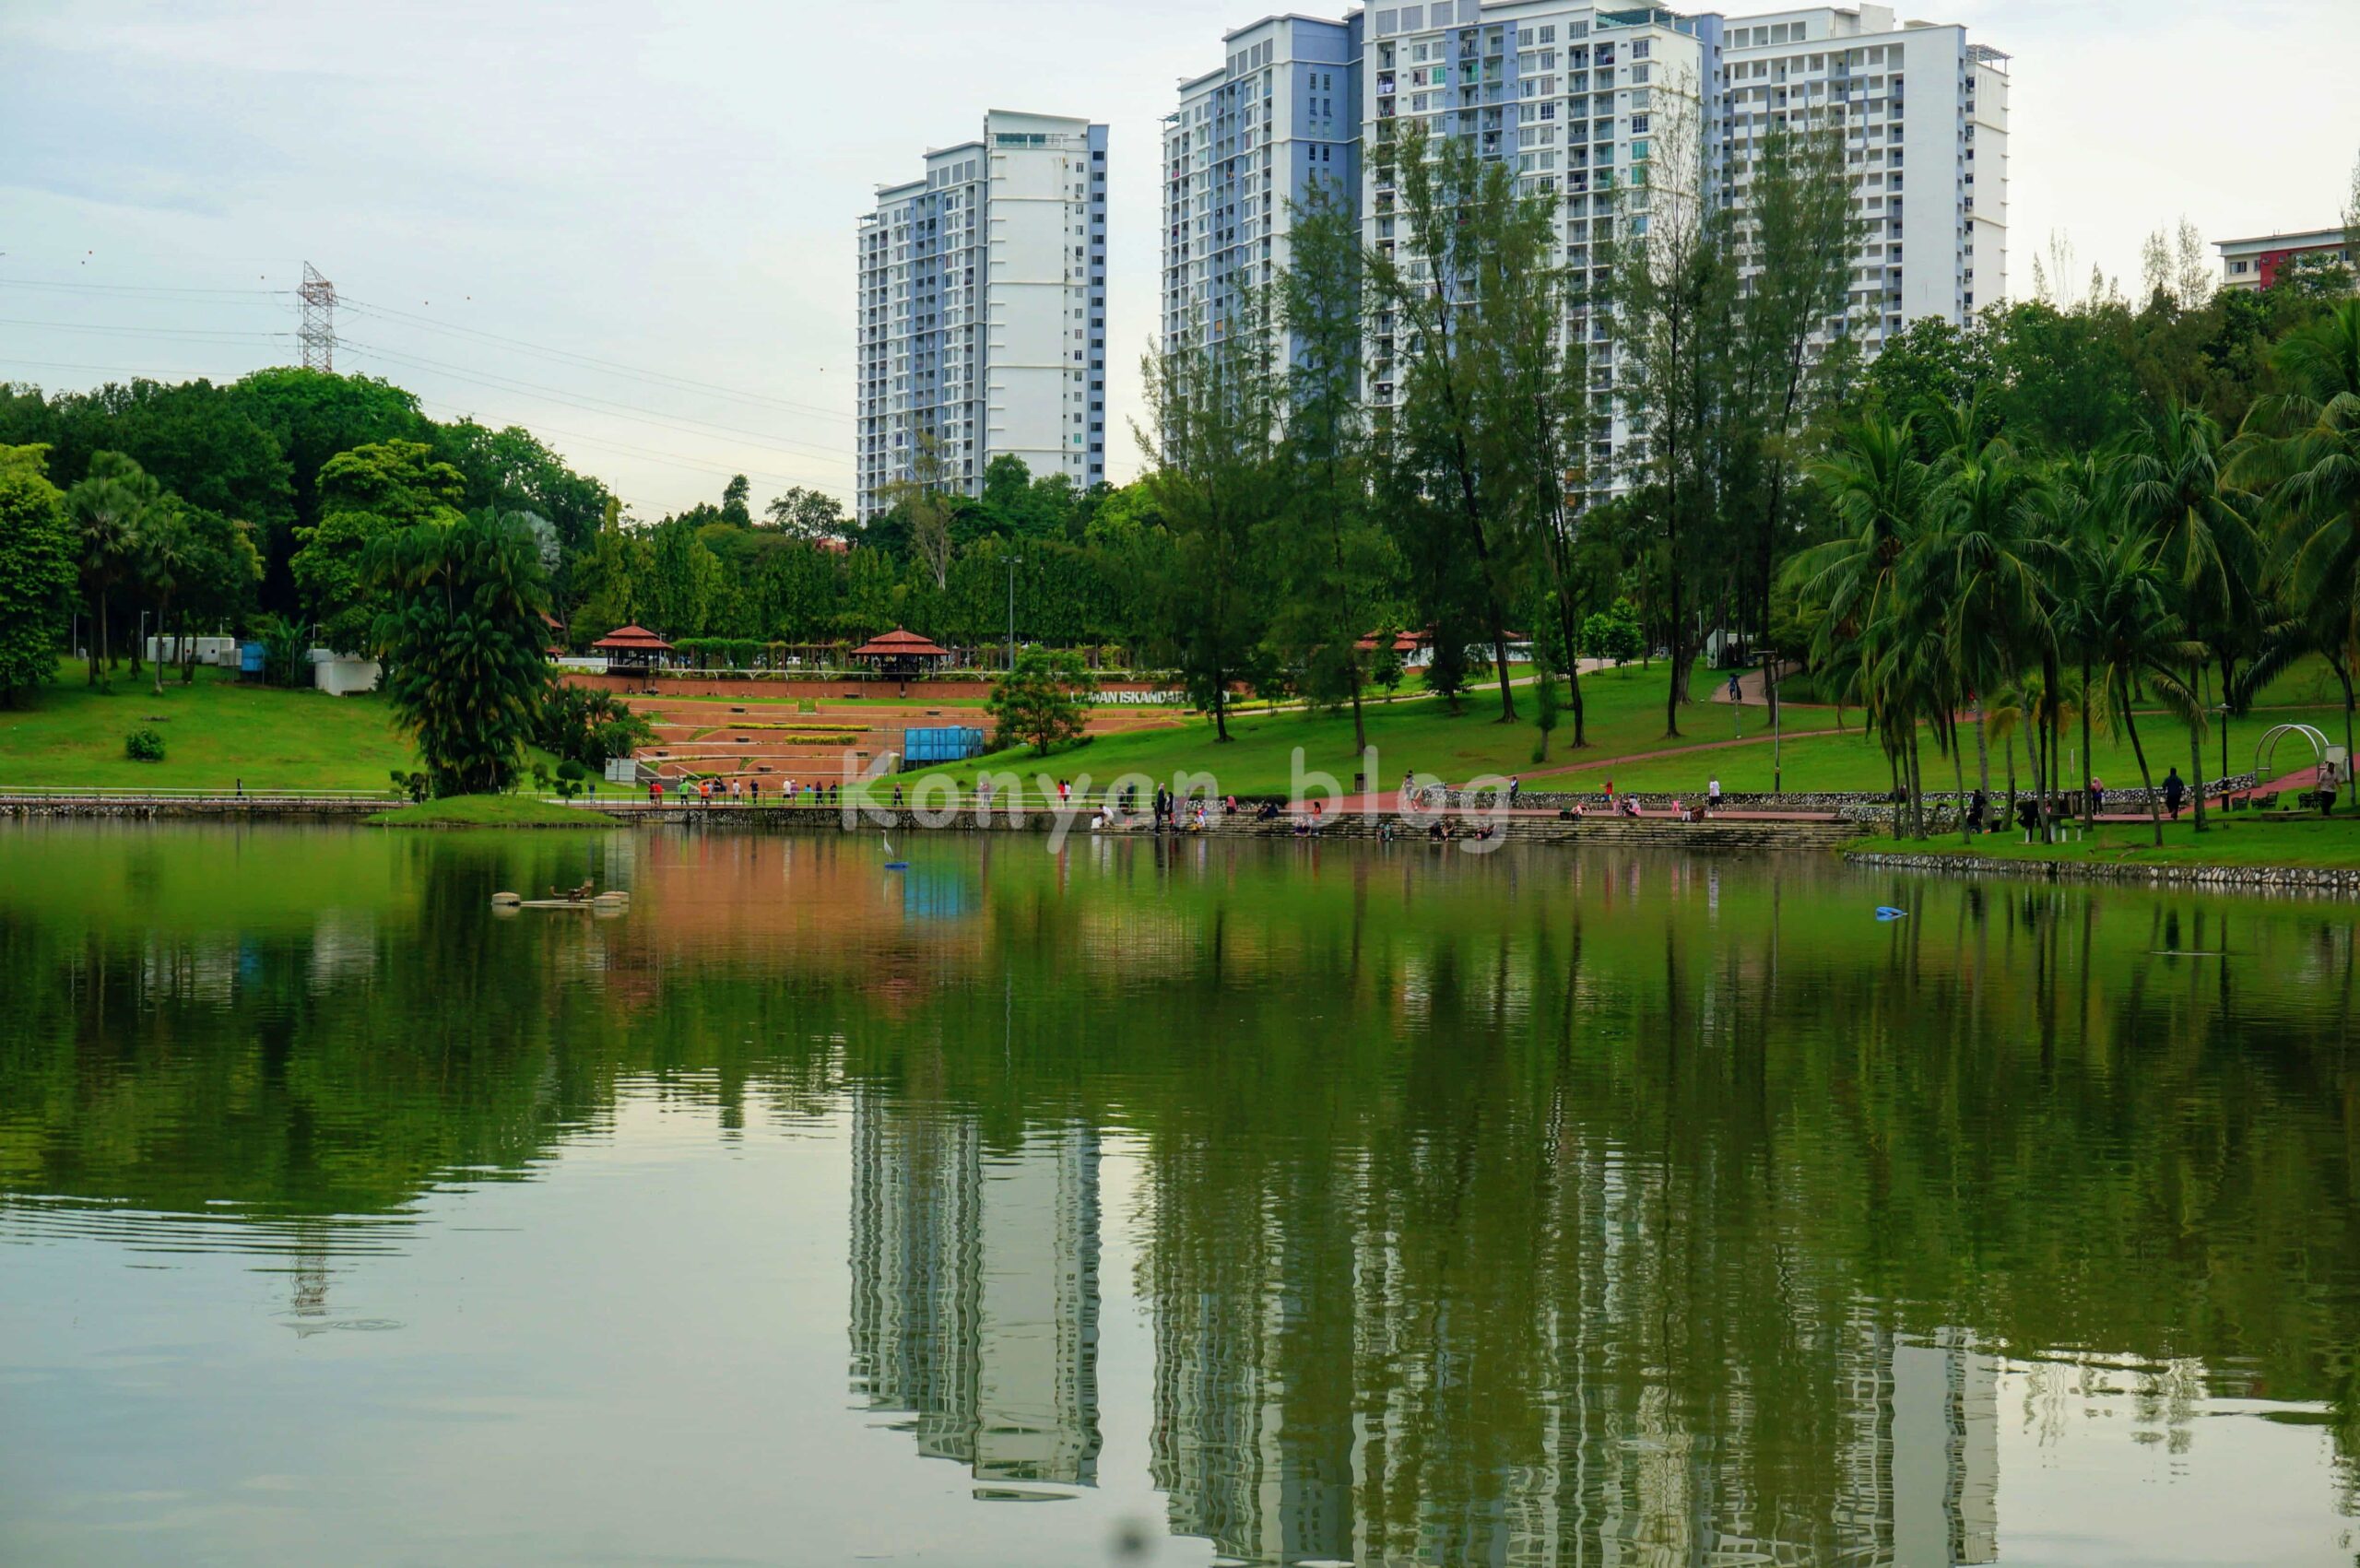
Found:
<path fill-rule="evenodd" d="M 805 850 L 680 850 L 640 869 L 696 900 L 611 926 L 496 928 L 514 867 L 432 848 L 269 940 L 5 907 L 0 1183 L 399 1214 L 625 1084 L 847 1110 L 854 1389 L 979 1481 L 1086 1485 L 1116 1136 L 1154 1481 L 1253 1559 L 1987 1561 L 1999 1351 L 2124 1358 L 2174 1443 L 2192 1379 L 2325 1400 L 2353 1452 L 2336 912 L 1909 888 L 1871 926 L 1812 867 L 1204 845 L 897 904 L 828 850 L 791 874 L 845 919 L 779 942 Z"/>

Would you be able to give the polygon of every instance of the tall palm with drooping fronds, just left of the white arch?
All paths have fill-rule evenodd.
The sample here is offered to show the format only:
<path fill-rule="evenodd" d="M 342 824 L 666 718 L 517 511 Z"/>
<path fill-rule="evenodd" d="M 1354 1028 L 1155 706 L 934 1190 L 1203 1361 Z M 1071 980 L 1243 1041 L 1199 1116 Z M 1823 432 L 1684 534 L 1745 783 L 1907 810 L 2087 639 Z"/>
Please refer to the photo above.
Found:
<path fill-rule="evenodd" d="M 2202 409 L 2169 404 L 2143 420 L 2122 458 L 2124 515 L 2157 545 L 2157 562 L 2176 583 L 2188 640 L 2221 661 L 2223 692 L 2235 682 L 2235 659 L 2261 642 L 2259 541 L 2223 477 L 2221 427 Z M 2188 690 L 2202 690 L 2202 652 L 2188 664 Z M 2228 718 L 2221 720 L 2228 772 Z M 2195 767 L 2195 824 L 2204 831 L 2204 713 L 2188 725 Z"/>

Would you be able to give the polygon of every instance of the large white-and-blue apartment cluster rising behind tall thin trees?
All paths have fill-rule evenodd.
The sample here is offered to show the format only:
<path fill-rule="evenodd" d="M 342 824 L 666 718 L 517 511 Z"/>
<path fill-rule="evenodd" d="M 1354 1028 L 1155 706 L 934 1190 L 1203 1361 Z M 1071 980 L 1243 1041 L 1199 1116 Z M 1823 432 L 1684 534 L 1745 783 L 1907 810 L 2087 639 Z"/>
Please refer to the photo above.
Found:
<path fill-rule="evenodd" d="M 1296 109 L 1310 66 L 1291 61 L 1317 47 L 1324 71 L 1338 38 L 1357 59 L 1357 151 L 1329 151 L 1333 142 L 1310 137 Z M 1428 0 L 1371 5 L 1343 21 L 1270 17 L 1230 33 L 1227 47 L 1220 71 L 1180 85 L 1180 111 L 1166 123 L 1166 347 L 1182 340 L 1192 312 L 1208 326 L 1222 321 L 1227 279 L 1284 267 L 1286 182 L 1305 165 L 1281 149 L 1317 142 L 1324 158 L 1350 163 L 1364 241 L 1395 250 L 1407 229 L 1376 153 L 1409 123 L 1513 163 L 1520 191 L 1553 203 L 1562 257 L 1591 283 L 1605 281 L 1612 241 L 1647 234 L 1673 203 L 1742 210 L 1772 130 L 1831 128 L 1860 220 L 1850 300 L 1831 333 L 1874 352 L 1909 321 L 1964 321 L 2006 290 L 2006 54 L 1971 43 L 1961 26 L 1897 21 L 1881 5 L 1723 17 L 1586 0 Z M 1685 146 L 1671 149 L 1669 135 Z M 1390 326 L 1371 309 L 1371 409 L 1399 399 L 1392 368 L 1407 345 Z M 1614 397 L 1614 324 L 1576 305 L 1567 331 L 1588 352 L 1598 394 L 1588 458 L 1607 472 L 1631 435 Z"/>

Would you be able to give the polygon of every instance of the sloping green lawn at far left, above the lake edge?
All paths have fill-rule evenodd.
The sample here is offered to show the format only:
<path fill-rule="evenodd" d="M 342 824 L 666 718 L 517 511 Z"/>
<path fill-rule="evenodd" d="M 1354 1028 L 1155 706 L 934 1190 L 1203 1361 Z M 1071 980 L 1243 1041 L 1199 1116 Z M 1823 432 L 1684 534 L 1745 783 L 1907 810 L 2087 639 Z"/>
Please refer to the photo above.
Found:
<path fill-rule="evenodd" d="M 165 675 L 163 697 L 149 680 L 118 671 L 109 697 L 64 661 L 31 706 L 0 708 L 0 789 L 229 789 L 241 779 L 248 789 L 387 789 L 392 770 L 418 767 L 382 697 L 238 685 L 212 668 L 186 687 Z M 163 737 L 160 763 L 123 756 L 132 730 Z"/>

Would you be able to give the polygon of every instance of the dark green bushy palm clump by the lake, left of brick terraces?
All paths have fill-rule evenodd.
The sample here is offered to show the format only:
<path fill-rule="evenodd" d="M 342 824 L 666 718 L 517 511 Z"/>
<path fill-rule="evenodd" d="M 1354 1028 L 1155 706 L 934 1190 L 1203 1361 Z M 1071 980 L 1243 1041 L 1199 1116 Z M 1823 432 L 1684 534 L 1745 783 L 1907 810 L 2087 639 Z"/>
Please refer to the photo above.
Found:
<path fill-rule="evenodd" d="M 505 791 L 540 720 L 548 583 L 531 536 L 484 508 L 368 545 L 375 652 L 437 796 Z"/>

